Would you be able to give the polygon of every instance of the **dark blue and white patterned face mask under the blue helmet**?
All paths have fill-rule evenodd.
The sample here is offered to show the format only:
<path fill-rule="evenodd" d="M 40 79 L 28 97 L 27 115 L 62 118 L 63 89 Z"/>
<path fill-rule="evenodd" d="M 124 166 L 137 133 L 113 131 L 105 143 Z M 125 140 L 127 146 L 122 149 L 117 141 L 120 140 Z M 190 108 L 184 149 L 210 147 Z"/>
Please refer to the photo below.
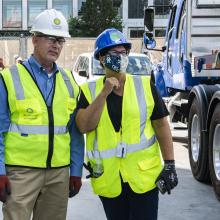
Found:
<path fill-rule="evenodd" d="M 107 54 L 104 62 L 108 69 L 116 73 L 125 73 L 128 66 L 128 56 Z"/>

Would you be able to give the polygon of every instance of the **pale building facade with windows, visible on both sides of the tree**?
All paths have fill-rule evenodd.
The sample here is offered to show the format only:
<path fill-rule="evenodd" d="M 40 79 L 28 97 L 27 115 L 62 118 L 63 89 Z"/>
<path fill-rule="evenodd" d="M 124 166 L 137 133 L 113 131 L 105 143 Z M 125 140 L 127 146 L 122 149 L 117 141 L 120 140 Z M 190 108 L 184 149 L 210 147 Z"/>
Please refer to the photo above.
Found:
<path fill-rule="evenodd" d="M 0 0 L 0 36 L 29 34 L 33 19 L 47 8 L 60 10 L 68 19 L 76 17 L 86 0 Z M 155 36 L 164 36 L 170 0 L 113 0 L 123 20 L 128 38 L 139 38 L 144 32 L 144 8 L 155 5 Z"/>

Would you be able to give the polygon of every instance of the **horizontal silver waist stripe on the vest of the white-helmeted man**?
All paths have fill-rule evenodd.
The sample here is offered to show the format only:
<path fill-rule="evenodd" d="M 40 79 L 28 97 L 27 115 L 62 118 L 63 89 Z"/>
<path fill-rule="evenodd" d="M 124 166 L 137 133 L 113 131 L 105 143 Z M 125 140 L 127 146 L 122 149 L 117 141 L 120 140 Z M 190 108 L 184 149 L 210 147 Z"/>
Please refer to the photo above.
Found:
<path fill-rule="evenodd" d="M 20 134 L 49 134 L 48 125 L 18 125 L 11 123 L 8 132 L 16 132 Z M 66 134 L 68 128 L 66 126 L 54 126 L 54 134 Z"/>

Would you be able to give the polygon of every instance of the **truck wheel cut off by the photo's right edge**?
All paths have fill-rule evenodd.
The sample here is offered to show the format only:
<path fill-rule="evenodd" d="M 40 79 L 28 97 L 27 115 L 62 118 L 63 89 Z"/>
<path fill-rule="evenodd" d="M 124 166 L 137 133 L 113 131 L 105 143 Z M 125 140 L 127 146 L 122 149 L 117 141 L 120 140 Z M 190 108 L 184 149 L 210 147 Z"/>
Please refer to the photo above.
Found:
<path fill-rule="evenodd" d="M 215 195 L 220 201 L 220 103 L 214 110 L 210 124 L 209 169 Z"/>

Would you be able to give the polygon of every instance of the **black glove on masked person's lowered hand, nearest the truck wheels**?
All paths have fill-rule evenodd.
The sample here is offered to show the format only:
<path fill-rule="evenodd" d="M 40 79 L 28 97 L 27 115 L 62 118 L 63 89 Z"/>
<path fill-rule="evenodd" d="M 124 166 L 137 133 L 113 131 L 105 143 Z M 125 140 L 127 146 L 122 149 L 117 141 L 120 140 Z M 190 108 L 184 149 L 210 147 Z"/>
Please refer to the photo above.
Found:
<path fill-rule="evenodd" d="M 178 178 L 175 169 L 174 160 L 165 160 L 164 168 L 160 175 L 156 179 L 156 185 L 162 194 L 170 194 L 171 189 L 173 189 L 178 184 Z"/>

